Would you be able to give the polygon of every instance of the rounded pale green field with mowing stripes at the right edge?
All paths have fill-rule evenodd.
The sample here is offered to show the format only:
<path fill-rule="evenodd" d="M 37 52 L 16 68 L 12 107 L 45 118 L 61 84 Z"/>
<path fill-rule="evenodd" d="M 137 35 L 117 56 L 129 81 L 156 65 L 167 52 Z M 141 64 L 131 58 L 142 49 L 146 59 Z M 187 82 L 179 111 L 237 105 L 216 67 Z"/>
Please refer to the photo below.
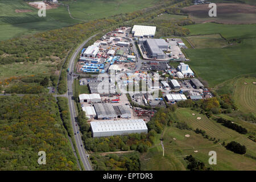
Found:
<path fill-rule="evenodd" d="M 254 84 L 253 84 L 254 82 Z M 256 78 L 242 77 L 236 81 L 234 100 L 238 108 L 244 113 L 256 115 Z"/>

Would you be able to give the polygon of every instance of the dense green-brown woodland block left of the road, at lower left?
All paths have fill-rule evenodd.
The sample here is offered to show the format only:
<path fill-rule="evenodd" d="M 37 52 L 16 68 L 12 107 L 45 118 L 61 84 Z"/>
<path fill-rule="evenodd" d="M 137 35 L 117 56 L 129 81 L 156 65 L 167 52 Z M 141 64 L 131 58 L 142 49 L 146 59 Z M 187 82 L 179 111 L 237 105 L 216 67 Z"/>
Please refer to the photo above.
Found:
<path fill-rule="evenodd" d="M 77 170 L 52 96 L 0 97 L 0 170 Z M 38 152 L 46 151 L 46 165 Z"/>

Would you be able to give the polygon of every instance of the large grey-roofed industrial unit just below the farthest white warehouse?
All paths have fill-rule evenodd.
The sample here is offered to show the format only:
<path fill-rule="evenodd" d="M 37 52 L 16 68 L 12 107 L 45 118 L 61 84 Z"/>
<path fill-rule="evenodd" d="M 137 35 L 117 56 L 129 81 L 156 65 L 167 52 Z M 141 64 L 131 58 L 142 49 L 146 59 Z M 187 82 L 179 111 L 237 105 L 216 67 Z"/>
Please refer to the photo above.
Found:
<path fill-rule="evenodd" d="M 148 50 L 150 57 L 155 59 L 166 59 L 166 54 L 163 51 L 168 50 L 168 44 L 164 39 L 140 39 L 140 44 Z"/>

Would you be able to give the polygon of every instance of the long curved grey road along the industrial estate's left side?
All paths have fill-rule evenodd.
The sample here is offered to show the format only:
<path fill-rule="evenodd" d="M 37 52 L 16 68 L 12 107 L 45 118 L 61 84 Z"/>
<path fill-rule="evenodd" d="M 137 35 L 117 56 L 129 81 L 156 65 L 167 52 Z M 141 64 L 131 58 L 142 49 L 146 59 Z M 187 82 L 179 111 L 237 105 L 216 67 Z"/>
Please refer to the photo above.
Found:
<path fill-rule="evenodd" d="M 77 54 L 80 53 L 80 50 L 82 49 L 82 47 L 84 47 L 84 45 L 92 38 L 94 38 L 94 36 L 96 36 L 97 34 L 90 36 L 87 40 L 85 40 L 82 44 L 80 44 L 79 47 L 76 48 L 75 52 L 73 53 L 73 55 L 71 56 L 71 59 L 69 60 L 69 71 L 73 72 L 74 70 L 74 63 L 75 63 L 75 59 Z M 88 159 L 88 153 L 85 150 L 85 147 L 82 143 L 82 138 L 81 138 L 81 134 L 80 134 L 80 130 L 79 130 L 79 125 L 76 121 L 76 110 L 75 110 L 75 101 L 74 101 L 74 97 L 73 97 L 73 89 L 72 89 L 72 85 L 73 85 L 73 79 L 74 77 L 68 73 L 68 105 L 69 105 L 69 111 L 71 114 L 71 121 L 72 121 L 72 127 L 73 127 L 73 132 L 75 134 L 75 142 L 76 142 L 76 146 L 77 146 L 77 150 L 79 151 L 79 155 L 80 155 L 80 159 L 82 161 L 82 164 L 84 165 L 84 168 L 86 171 L 92 171 L 93 168 L 89 162 Z"/>

